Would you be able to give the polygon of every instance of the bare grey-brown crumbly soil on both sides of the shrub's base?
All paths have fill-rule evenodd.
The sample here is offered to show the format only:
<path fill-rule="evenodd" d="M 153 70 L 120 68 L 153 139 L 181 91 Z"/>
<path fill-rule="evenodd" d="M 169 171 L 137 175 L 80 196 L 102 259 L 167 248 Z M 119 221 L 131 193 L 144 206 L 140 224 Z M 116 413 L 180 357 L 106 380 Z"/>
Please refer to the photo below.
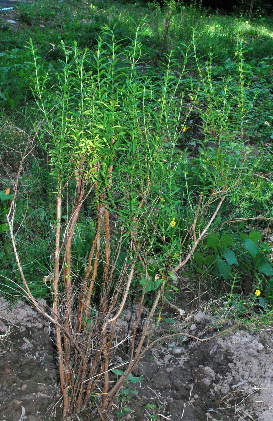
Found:
<path fill-rule="evenodd" d="M 5 336 L 5 327 L 10 328 L 0 345 L 0 421 L 22 421 L 24 410 L 27 421 L 53 420 L 61 397 L 51 327 L 23 302 L 12 308 L 7 304 L 0 298 L 1 335 Z M 120 319 L 117 332 L 128 323 L 128 312 Z M 124 408 L 120 419 L 135 421 L 272 421 L 270 328 L 258 332 L 227 322 L 221 333 L 214 317 L 201 311 L 188 315 L 187 307 L 171 318 L 169 310 L 161 314 L 151 339 L 179 331 L 193 336 L 203 332 L 204 337 L 205 330 L 206 337 L 214 338 L 199 342 L 184 336 L 158 342 L 134 373 L 143 380 L 128 382 L 126 388 L 133 392 L 129 399 L 125 394 L 115 402 L 108 418 L 117 419 L 115 410 Z M 78 420 L 86 419 L 78 415 Z"/>

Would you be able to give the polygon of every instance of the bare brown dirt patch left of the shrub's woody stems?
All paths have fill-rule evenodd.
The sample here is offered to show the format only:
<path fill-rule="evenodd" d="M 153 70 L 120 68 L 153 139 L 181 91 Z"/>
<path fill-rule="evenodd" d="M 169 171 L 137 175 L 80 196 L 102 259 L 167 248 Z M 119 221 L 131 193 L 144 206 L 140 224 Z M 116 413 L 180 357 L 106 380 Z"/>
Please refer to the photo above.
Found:
<path fill-rule="evenodd" d="M 52 342 L 43 317 L 19 302 L 7 308 L 0 299 L 1 330 L 10 329 L 0 344 L 0 420 L 48 419 L 57 390 Z"/>

